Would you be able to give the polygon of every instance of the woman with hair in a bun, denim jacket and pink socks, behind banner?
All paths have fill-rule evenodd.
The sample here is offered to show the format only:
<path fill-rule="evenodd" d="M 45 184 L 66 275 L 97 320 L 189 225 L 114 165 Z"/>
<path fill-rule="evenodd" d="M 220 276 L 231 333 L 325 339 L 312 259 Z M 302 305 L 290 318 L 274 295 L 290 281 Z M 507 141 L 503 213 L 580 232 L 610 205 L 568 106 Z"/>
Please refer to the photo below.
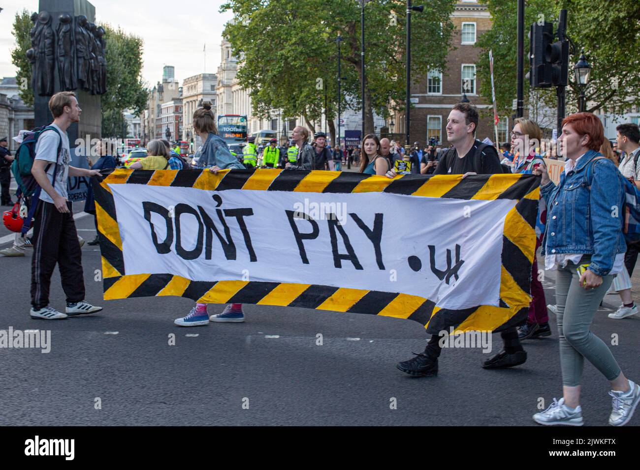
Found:
<path fill-rule="evenodd" d="M 221 169 L 228 168 L 245 169 L 244 165 L 231 155 L 227 143 L 218 135 L 216 119 L 211 107 L 211 102 L 205 101 L 202 102 L 202 107 L 198 107 L 193 112 L 193 132 L 204 142 L 200 150 L 198 168 L 209 168 L 211 173 L 218 173 Z M 211 315 L 209 318 L 207 304 L 196 303 L 186 317 L 176 318 L 173 323 L 179 326 L 200 326 L 209 324 L 209 320 L 244 322 L 242 304 L 228 304 L 222 313 Z"/>

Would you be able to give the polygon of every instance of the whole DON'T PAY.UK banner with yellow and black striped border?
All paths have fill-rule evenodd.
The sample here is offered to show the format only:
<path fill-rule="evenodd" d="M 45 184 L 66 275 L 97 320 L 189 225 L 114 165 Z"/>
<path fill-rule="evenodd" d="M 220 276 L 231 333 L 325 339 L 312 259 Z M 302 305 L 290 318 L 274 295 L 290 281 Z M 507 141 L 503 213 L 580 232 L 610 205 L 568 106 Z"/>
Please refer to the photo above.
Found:
<path fill-rule="evenodd" d="M 104 298 L 499 330 L 529 310 L 540 178 L 116 169 L 93 182 Z"/>

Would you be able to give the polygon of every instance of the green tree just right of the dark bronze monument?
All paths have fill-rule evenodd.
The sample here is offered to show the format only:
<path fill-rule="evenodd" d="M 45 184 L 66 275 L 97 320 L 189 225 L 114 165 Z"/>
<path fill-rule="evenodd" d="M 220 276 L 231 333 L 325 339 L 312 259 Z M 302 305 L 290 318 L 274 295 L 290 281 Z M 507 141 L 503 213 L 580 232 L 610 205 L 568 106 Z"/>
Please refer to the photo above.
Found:
<path fill-rule="evenodd" d="M 123 113 L 140 115 L 147 107 L 148 90 L 142 80 L 143 40 L 120 27 L 103 26 L 107 42 L 107 92 L 100 97 L 102 136 L 126 137 Z"/>

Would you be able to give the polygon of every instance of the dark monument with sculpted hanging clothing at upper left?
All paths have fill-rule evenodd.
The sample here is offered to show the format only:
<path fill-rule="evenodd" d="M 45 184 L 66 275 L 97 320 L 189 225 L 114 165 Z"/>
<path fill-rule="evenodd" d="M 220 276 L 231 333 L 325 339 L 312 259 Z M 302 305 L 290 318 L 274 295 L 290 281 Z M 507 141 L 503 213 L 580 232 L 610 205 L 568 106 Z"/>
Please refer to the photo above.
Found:
<path fill-rule="evenodd" d="M 106 93 L 106 41 L 95 24 L 95 7 L 87 0 L 40 0 L 31 15 L 31 86 L 35 125 L 53 120 L 49 98 L 58 91 L 75 91 L 82 109 L 80 122 L 67 130 L 72 148 L 77 139 L 101 136 L 100 95 Z"/>

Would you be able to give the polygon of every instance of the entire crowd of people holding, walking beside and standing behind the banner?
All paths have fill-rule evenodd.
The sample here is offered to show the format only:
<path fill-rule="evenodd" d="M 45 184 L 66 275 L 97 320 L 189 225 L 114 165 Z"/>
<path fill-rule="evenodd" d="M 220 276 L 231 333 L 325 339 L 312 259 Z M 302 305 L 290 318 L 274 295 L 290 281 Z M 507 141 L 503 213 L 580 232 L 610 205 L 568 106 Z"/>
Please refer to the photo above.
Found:
<path fill-rule="evenodd" d="M 76 315 L 96 313 L 102 308 L 84 299 L 84 276 L 81 249 L 67 200 L 68 176 L 100 176 L 102 169 L 115 168 L 107 143 L 101 146 L 100 158 L 92 169 L 70 166 L 68 127 L 79 121 L 81 108 L 72 92 L 56 93 L 49 101 L 54 121 L 41 131 L 35 145 L 31 173 L 38 190 L 29 194 L 26 205 L 35 208 L 31 269 L 32 318 L 58 320 Z M 476 139 L 479 115 L 468 103 L 456 104 L 447 118 L 449 148 L 431 141 L 420 150 L 415 143 L 403 148 L 394 141 L 368 134 L 360 151 L 346 155 L 341 148 L 330 150 L 326 135 L 317 133 L 309 143 L 305 127 L 292 132 L 292 145 L 278 148 L 275 141 L 257 152 L 255 143 L 243 149 L 243 162 L 232 155 L 218 135 L 211 103 L 204 102 L 193 114 L 193 127 L 204 144 L 198 167 L 217 173 L 222 169 L 244 169 L 265 166 L 285 171 L 334 169 L 353 157 L 360 173 L 396 178 L 399 174 L 491 175 L 521 173 L 540 176 L 541 203 L 536 223 L 536 252 L 541 248 L 545 270 L 556 272 L 556 303 L 548 305 L 538 277 L 538 260 L 531 270 L 532 302 L 529 315 L 520 325 L 510 324 L 500 332 L 503 346 L 486 359 L 486 369 L 504 369 L 527 361 L 522 342 L 552 335 L 548 311 L 556 316 L 559 355 L 563 378 L 563 397 L 555 400 L 533 419 L 543 425 L 582 425 L 580 384 L 585 359 L 593 364 L 611 384 L 611 425 L 624 425 L 640 402 L 640 386 L 628 380 L 604 341 L 589 331 L 605 294 L 613 285 L 622 304 L 609 314 L 612 319 L 636 315 L 637 306 L 630 295 L 630 276 L 636 264 L 640 244 L 625 237 L 624 217 L 614 217 L 612 207 L 625 205 L 625 178 L 640 188 L 640 129 L 634 124 L 618 126 L 617 148 L 608 147 L 600 120 L 591 113 L 577 113 L 563 121 L 557 143 L 565 159 L 560 180 L 550 180 L 547 165 L 533 142 L 540 142 L 542 131 L 537 123 L 520 118 L 511 130 L 511 142 L 502 152 Z M 0 141 L 1 142 L 1 141 Z M 183 169 L 186 162 L 172 151 L 166 141 L 148 143 L 148 156 L 132 164 L 132 169 Z M 511 153 L 511 148 L 520 151 Z M 112 149 L 111 149 L 112 150 Z M 618 155 L 621 161 L 618 165 Z M 554 150 L 557 152 L 557 150 Z M 26 195 L 23 195 L 26 196 Z M 4 194 L 3 194 L 4 197 Z M 3 201 L 4 202 L 4 201 Z M 95 214 L 93 194 L 85 210 Z M 33 212 L 31 212 L 33 213 Z M 25 217 L 26 226 L 31 216 Z M 28 219 L 28 220 L 27 220 Z M 16 234 L 12 249 L 26 246 L 26 231 Z M 99 242 L 99 238 L 93 240 Z M 3 255 L 8 255 L 3 250 Z M 60 267 L 62 288 L 67 297 L 65 312 L 49 304 L 51 276 Z M 183 327 L 207 325 L 209 322 L 244 322 L 241 304 L 229 304 L 221 313 L 209 315 L 207 304 L 196 302 L 175 324 Z M 397 364 L 409 375 L 433 376 L 438 373 L 442 353 L 440 337 L 432 335 L 424 352 Z"/>

